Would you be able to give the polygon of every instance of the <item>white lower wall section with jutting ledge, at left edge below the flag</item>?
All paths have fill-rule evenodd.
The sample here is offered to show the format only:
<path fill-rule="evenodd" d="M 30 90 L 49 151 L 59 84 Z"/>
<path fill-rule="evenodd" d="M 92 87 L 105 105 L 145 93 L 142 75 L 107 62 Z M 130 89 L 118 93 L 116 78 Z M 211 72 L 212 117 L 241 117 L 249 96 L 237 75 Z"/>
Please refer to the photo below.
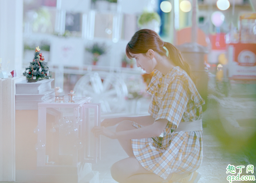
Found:
<path fill-rule="evenodd" d="M 0 78 L 0 182 L 16 180 L 15 93 L 25 76 Z"/>

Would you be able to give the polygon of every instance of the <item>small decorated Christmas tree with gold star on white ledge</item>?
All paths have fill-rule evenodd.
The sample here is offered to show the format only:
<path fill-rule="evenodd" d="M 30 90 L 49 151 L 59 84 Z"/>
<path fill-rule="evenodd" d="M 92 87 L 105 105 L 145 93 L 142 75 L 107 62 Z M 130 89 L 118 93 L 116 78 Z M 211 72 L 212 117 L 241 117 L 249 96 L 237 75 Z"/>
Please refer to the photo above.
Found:
<path fill-rule="evenodd" d="M 34 59 L 30 62 L 23 75 L 28 79 L 34 79 L 35 77 L 35 81 L 38 81 L 39 78 L 49 79 L 52 77 L 52 73 L 49 71 L 47 62 L 44 61 L 44 56 L 42 56 L 39 46 L 35 48 Z"/>

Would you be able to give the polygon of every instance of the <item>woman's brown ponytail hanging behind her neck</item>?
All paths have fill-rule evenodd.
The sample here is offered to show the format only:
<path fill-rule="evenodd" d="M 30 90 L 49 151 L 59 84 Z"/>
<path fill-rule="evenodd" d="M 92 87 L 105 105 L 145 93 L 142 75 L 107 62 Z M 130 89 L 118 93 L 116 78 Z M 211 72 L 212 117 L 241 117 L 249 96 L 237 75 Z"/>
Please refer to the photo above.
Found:
<path fill-rule="evenodd" d="M 168 50 L 168 58 L 181 69 L 185 70 L 190 78 L 193 80 L 193 75 L 190 69 L 190 65 L 184 60 L 181 52 L 172 44 L 164 42 L 164 46 Z"/>

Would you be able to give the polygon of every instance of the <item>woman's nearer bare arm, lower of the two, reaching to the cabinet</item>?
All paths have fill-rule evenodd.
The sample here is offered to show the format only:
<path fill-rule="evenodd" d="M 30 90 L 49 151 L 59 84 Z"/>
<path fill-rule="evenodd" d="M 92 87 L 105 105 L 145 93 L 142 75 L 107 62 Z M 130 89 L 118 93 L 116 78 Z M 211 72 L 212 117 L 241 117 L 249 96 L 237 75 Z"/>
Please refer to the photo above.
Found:
<path fill-rule="evenodd" d="M 144 139 L 150 137 L 156 137 L 161 134 L 168 123 L 167 119 L 159 119 L 153 124 L 128 131 L 113 132 L 105 127 L 95 126 L 92 132 L 96 135 L 105 135 L 111 139 Z"/>

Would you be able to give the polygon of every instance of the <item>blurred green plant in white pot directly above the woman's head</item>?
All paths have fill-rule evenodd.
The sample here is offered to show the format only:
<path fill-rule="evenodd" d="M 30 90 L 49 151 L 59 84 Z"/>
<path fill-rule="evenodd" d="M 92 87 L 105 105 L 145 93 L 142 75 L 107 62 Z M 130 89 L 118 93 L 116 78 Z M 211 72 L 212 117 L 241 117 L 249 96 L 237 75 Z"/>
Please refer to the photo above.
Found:
<path fill-rule="evenodd" d="M 144 11 L 138 19 L 138 26 L 142 29 L 147 28 L 159 33 L 161 23 L 160 16 L 157 12 Z"/>

